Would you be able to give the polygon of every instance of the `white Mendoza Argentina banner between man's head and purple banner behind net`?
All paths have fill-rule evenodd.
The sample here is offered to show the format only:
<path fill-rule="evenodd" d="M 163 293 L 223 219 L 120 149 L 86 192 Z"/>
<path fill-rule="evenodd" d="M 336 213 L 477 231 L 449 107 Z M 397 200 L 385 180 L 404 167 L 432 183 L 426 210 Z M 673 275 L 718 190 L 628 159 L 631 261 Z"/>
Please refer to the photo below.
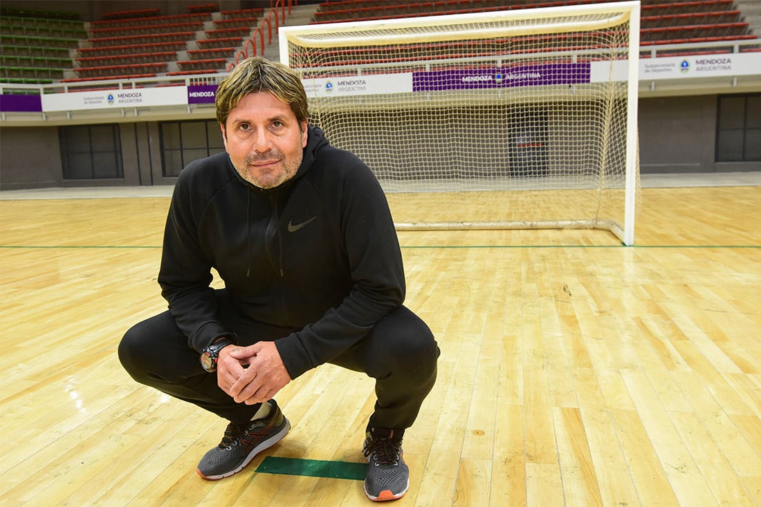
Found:
<path fill-rule="evenodd" d="M 302 79 L 307 98 L 376 95 L 378 93 L 409 93 L 412 91 L 412 72 L 403 74 L 373 74 L 342 78 Z"/>

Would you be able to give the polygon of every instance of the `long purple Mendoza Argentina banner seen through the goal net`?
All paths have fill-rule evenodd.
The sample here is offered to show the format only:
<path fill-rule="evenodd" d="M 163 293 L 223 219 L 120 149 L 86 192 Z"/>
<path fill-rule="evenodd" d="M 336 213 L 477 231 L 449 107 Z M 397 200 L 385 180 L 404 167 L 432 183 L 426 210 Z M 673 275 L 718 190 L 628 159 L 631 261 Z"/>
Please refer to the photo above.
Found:
<path fill-rule="evenodd" d="M 589 68 L 589 62 L 584 62 L 415 72 L 412 74 L 412 91 L 581 84 L 589 82 Z"/>

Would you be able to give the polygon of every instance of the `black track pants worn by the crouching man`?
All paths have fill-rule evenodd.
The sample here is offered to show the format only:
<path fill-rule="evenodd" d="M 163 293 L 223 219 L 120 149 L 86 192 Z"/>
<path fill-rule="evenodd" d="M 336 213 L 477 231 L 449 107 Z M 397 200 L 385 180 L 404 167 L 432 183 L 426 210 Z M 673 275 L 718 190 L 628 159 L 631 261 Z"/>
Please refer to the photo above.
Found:
<path fill-rule="evenodd" d="M 218 290 L 218 320 L 237 334 L 237 343 L 272 341 L 295 329 L 253 322 Z M 376 380 L 370 425 L 405 429 L 412 426 L 422 401 L 436 380 L 438 346 L 431 330 L 404 306 L 394 310 L 357 344 L 330 363 L 365 372 Z M 205 372 L 199 353 L 164 312 L 133 326 L 119 344 L 119 360 L 132 378 L 167 395 L 188 401 L 234 422 L 249 420 L 259 404 L 236 403 L 217 385 L 217 375 Z"/>

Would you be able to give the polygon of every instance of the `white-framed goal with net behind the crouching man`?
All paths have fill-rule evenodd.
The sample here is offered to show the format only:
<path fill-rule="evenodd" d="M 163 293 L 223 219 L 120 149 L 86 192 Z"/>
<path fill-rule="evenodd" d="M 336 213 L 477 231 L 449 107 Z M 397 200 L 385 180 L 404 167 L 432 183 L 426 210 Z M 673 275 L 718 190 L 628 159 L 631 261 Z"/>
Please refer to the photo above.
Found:
<path fill-rule="evenodd" d="M 310 121 L 400 230 L 589 228 L 634 242 L 639 2 L 280 28 Z"/>

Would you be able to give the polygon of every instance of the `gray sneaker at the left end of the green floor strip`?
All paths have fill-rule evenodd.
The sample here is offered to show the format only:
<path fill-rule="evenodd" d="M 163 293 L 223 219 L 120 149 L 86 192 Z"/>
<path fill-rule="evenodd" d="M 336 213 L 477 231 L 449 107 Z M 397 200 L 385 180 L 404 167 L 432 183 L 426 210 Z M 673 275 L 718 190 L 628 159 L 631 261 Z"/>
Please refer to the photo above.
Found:
<path fill-rule="evenodd" d="M 204 479 L 219 480 L 237 474 L 254 456 L 280 442 L 291 429 L 275 400 L 267 403 L 272 411 L 267 417 L 247 424 L 228 424 L 222 441 L 207 452 L 198 464 L 198 474 Z"/>

